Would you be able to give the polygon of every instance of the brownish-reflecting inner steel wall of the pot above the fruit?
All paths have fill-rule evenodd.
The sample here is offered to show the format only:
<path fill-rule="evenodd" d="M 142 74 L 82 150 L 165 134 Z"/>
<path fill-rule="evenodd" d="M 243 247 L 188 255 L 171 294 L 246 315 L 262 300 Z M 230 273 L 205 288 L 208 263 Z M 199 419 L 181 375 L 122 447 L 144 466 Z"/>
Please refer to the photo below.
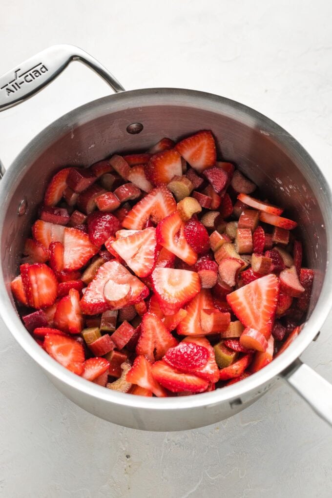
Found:
<path fill-rule="evenodd" d="M 237 114 L 232 113 L 229 105 L 223 115 L 220 106 L 218 112 L 181 105 L 122 108 L 113 112 L 109 105 L 97 118 L 81 116 L 66 126 L 62 123 L 48 128 L 42 140 L 35 140 L 33 147 L 25 150 L 24 162 L 22 155 L 18 158 L 21 172 L 15 179 L 15 191 L 8 192 L 3 202 L 6 214 L 1 261 L 5 281 L 9 283 L 17 274 L 23 238 L 29 234 L 45 185 L 56 170 L 67 165 L 87 166 L 114 152 L 144 151 L 163 136 L 178 140 L 199 129 L 212 129 L 219 158 L 235 162 L 259 186 L 263 197 L 287 207 L 285 216 L 298 220 L 306 264 L 316 271 L 312 309 L 327 263 L 326 197 L 320 179 L 312 174 L 306 154 L 297 155 L 292 140 L 285 141 L 280 131 L 276 133 L 268 126 L 261 129 L 244 112 Z M 136 122 L 143 124 L 143 131 L 136 135 L 127 133 L 127 125 Z M 18 217 L 17 207 L 23 198 L 27 199 L 28 211 Z"/>

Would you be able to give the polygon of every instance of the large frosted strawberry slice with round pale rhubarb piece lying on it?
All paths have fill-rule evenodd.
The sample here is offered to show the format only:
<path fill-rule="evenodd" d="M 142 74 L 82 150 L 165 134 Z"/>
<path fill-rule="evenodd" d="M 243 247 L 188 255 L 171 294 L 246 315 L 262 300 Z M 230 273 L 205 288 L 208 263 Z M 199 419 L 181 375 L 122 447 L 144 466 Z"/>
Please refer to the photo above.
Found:
<path fill-rule="evenodd" d="M 130 290 L 126 296 L 125 304 L 120 307 L 135 304 L 145 299 L 149 293 L 148 288 L 121 263 L 116 260 L 108 261 L 99 268 L 81 299 L 81 308 L 84 314 L 97 315 L 110 309 L 104 296 L 104 287 L 109 281 L 111 281 L 111 288 L 112 283 L 114 284 L 114 289 L 129 284 Z M 117 299 L 116 295 L 114 297 Z M 114 301 L 111 308 L 116 309 L 116 304 L 117 302 Z"/>

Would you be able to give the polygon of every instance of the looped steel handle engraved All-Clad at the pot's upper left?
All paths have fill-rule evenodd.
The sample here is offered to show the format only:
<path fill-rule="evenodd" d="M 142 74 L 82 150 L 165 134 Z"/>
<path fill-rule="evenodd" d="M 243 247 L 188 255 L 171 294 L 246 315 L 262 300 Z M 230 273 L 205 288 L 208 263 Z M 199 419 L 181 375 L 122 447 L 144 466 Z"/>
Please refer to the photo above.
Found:
<path fill-rule="evenodd" d="M 71 61 L 80 61 L 96 71 L 114 90 L 124 88 L 114 76 L 90 54 L 74 45 L 54 45 L 30 57 L 0 76 L 0 111 L 20 104 L 51 83 Z M 0 178 L 4 168 L 0 162 Z"/>

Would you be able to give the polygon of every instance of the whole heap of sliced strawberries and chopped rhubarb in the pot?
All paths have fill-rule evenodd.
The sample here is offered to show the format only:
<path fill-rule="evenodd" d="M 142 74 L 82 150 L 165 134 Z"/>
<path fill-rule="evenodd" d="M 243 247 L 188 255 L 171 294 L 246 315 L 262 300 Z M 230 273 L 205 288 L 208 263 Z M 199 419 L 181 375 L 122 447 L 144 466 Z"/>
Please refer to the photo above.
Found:
<path fill-rule="evenodd" d="M 314 278 L 296 222 L 259 197 L 205 130 L 61 169 L 11 282 L 25 327 L 71 372 L 135 395 L 257 372 L 299 334 Z"/>

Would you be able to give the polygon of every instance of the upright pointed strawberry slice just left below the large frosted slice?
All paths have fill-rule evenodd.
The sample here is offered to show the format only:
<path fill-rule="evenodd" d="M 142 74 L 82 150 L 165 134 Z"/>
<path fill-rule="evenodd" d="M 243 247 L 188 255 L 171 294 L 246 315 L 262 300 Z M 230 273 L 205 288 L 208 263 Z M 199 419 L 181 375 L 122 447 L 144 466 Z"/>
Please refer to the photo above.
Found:
<path fill-rule="evenodd" d="M 83 315 L 80 306 L 80 294 L 70 289 L 68 296 L 58 302 L 54 314 L 54 325 L 63 332 L 79 334 L 83 329 Z"/>

